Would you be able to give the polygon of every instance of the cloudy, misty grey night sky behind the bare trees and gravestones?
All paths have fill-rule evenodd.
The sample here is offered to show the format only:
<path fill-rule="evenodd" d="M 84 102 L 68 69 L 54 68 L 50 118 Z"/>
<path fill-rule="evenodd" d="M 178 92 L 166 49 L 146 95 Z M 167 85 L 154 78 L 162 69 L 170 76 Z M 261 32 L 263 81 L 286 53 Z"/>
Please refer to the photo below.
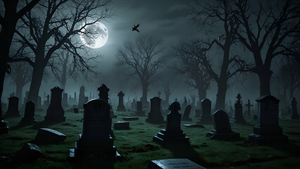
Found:
<path fill-rule="evenodd" d="M 201 28 L 198 25 L 192 23 L 190 20 L 189 10 L 193 5 L 193 1 L 182 1 L 182 0 L 172 0 L 172 1 L 140 1 L 140 0 L 115 0 L 112 4 L 112 9 L 115 15 L 113 18 L 102 21 L 104 25 L 108 28 L 109 37 L 108 42 L 100 49 L 90 49 L 98 54 L 103 54 L 104 57 L 99 59 L 97 63 L 96 70 L 101 73 L 99 79 L 94 80 L 94 82 L 85 82 L 85 80 L 68 80 L 65 87 L 65 92 L 72 94 L 77 92 L 79 94 L 79 88 L 83 84 L 86 87 L 86 95 L 89 96 L 89 92 L 92 92 L 97 96 L 97 87 L 102 83 L 105 83 L 108 88 L 110 88 L 110 98 L 117 99 L 117 94 L 120 90 L 125 93 L 125 101 L 127 96 L 133 96 L 139 98 L 142 95 L 142 88 L 137 88 L 139 85 L 138 81 L 126 80 L 122 70 L 116 67 L 116 53 L 117 49 L 123 45 L 124 42 L 134 40 L 139 34 L 143 35 L 154 35 L 161 37 L 163 39 L 163 48 L 165 49 L 165 54 L 168 54 L 170 46 L 177 42 L 181 38 L 191 38 L 198 35 L 204 36 Z M 132 32 L 132 26 L 139 24 L 140 32 Z M 218 34 L 218 30 L 213 30 Z M 216 37 L 218 35 L 215 35 Z M 216 62 L 220 62 L 219 57 L 222 54 L 219 51 L 212 51 L 213 58 Z M 218 55 L 220 54 L 220 55 Z M 246 53 L 243 53 L 246 55 Z M 249 54 L 249 59 L 251 60 L 253 56 Z M 217 65 L 218 67 L 219 65 Z M 178 78 L 177 88 L 174 94 L 170 96 L 173 100 L 175 97 L 183 98 L 186 94 L 184 89 L 188 89 L 185 85 L 183 78 Z M 59 83 L 54 79 L 48 80 L 48 82 L 42 82 L 42 87 L 39 90 L 39 96 L 44 96 L 50 94 L 50 89 Z M 23 96 L 25 96 L 25 91 L 30 87 L 30 84 L 26 84 L 23 87 Z M 7 101 L 6 98 L 9 97 L 9 93 L 15 92 L 15 87 L 13 87 L 9 80 L 6 80 L 4 86 L 3 101 Z M 138 89 L 138 90 L 136 90 Z M 158 90 L 154 86 L 149 87 L 150 91 L 148 94 L 148 99 L 157 95 Z M 241 84 L 241 82 L 236 83 L 236 85 L 227 91 L 227 97 L 232 101 L 235 101 L 235 96 L 237 92 L 240 92 L 243 96 L 247 96 L 246 99 L 256 99 L 259 96 L 259 83 L 258 77 L 253 73 L 248 73 L 247 79 Z M 194 91 L 196 94 L 196 91 Z M 215 82 L 211 83 L 211 89 L 208 90 L 207 97 L 212 101 L 215 101 L 215 94 L 217 93 L 217 88 Z M 78 96 L 78 95 L 77 95 Z M 164 99 L 164 96 L 163 96 Z"/>

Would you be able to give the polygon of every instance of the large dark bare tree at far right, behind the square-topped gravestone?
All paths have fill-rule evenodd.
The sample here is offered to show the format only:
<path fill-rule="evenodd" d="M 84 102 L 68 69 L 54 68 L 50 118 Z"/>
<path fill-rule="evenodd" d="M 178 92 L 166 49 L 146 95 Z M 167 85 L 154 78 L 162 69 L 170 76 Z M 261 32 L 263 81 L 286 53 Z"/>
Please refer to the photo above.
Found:
<path fill-rule="evenodd" d="M 290 37 L 299 35 L 299 1 L 251 1 L 235 0 L 237 20 L 242 25 L 237 37 L 254 56 L 251 69 L 260 81 L 260 94 L 270 95 L 270 70 L 273 58 L 285 54 L 283 47 Z"/>

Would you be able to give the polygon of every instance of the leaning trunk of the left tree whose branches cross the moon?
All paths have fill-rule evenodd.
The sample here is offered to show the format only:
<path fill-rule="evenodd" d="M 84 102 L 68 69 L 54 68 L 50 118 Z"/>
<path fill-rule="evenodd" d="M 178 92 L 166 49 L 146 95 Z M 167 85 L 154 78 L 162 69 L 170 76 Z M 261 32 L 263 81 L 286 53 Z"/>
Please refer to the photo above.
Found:
<path fill-rule="evenodd" d="M 35 105 L 37 105 L 37 96 L 39 96 L 39 87 L 41 87 L 42 84 L 45 66 L 46 64 L 36 61 L 35 66 L 33 67 L 32 80 L 27 101 L 32 101 L 33 103 L 35 103 Z"/>

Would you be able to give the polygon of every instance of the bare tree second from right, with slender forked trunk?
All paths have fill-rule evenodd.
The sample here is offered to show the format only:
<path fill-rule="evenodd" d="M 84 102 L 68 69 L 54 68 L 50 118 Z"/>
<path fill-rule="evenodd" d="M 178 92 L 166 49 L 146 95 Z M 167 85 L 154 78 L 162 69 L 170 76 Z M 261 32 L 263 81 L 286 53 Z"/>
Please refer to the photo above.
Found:
<path fill-rule="evenodd" d="M 232 45 L 237 43 L 236 34 L 239 29 L 239 22 L 234 17 L 235 13 L 232 5 L 230 0 L 196 1 L 191 13 L 195 23 L 198 23 L 201 27 L 208 28 L 206 34 L 217 34 L 212 44 L 217 44 L 223 52 L 219 73 L 213 70 L 213 64 L 208 57 L 204 57 L 202 63 L 213 80 L 218 84 L 215 108 L 223 110 L 225 108 L 228 80 L 239 73 L 248 71 L 249 68 L 240 56 L 230 54 Z M 219 32 L 213 32 L 213 30 L 218 30 Z"/>

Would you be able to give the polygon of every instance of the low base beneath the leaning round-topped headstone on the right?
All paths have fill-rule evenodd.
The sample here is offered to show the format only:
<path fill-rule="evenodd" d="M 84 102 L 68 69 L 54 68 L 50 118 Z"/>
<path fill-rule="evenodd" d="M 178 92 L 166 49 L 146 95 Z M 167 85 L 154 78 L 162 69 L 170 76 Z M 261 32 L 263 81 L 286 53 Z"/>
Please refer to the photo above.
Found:
<path fill-rule="evenodd" d="M 207 137 L 211 137 L 211 139 L 218 139 L 221 141 L 238 141 L 239 133 L 238 132 L 216 132 L 212 130 L 211 132 L 206 133 Z"/>

